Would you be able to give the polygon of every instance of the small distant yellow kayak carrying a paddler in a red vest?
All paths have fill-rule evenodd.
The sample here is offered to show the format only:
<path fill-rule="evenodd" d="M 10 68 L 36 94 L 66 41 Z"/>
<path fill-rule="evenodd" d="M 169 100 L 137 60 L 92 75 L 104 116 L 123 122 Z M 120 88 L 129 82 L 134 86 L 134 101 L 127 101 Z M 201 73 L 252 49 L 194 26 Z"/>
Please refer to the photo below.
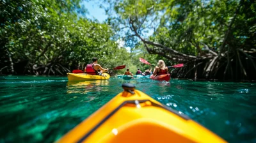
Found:
<path fill-rule="evenodd" d="M 101 75 L 89 75 L 87 73 L 67 73 L 68 81 L 84 81 L 84 80 L 106 80 L 110 78 L 108 73 L 102 73 L 105 77 Z"/>

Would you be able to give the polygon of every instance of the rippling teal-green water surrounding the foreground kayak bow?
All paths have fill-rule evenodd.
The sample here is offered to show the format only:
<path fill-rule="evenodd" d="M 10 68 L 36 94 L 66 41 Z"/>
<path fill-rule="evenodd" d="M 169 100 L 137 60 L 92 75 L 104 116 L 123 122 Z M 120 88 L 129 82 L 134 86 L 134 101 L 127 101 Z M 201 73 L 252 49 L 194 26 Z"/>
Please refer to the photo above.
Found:
<path fill-rule="evenodd" d="M 54 142 L 122 92 L 122 79 L 0 77 L 0 142 Z M 129 81 L 228 142 L 256 142 L 256 84 Z"/>

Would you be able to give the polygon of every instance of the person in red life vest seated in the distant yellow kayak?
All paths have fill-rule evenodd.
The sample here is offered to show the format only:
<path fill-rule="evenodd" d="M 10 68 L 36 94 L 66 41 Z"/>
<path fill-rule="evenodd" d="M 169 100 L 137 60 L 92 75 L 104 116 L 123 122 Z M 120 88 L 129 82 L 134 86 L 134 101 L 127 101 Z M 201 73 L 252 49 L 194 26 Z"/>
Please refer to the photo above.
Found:
<path fill-rule="evenodd" d="M 84 68 L 84 72 L 90 75 L 102 75 L 102 73 L 107 72 L 108 68 L 102 68 L 98 64 L 98 59 L 96 57 L 92 58 L 92 64 L 87 64 Z M 104 75 L 102 75 L 104 77 Z"/>

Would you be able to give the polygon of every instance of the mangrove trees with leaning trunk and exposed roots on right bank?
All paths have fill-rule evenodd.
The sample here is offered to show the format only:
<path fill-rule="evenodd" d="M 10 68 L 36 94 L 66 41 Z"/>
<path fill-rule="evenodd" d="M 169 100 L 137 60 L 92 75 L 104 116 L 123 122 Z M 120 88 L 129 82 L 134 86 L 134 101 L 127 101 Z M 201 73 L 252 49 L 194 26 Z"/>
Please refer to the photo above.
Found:
<path fill-rule="evenodd" d="M 256 78 L 250 68 L 255 72 L 253 1 L 105 2 L 110 4 L 108 22 L 122 31 L 119 36 L 142 41 L 150 54 L 186 63 L 177 70 L 179 77 L 196 78 L 198 73 L 200 78 Z"/>

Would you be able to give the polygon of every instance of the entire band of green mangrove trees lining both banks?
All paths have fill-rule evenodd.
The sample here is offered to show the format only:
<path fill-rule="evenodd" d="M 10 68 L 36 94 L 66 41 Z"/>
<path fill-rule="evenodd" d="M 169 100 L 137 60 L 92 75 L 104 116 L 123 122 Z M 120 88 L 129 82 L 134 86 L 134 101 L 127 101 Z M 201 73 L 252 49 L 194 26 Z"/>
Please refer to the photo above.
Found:
<path fill-rule="evenodd" d="M 134 73 L 150 68 L 138 60 L 143 57 L 184 63 L 172 69 L 174 78 L 256 80 L 254 1 L 99 0 L 108 4 L 102 23 L 86 17 L 82 2 L 1 1 L 0 73 L 66 75 L 92 57 Z"/>

